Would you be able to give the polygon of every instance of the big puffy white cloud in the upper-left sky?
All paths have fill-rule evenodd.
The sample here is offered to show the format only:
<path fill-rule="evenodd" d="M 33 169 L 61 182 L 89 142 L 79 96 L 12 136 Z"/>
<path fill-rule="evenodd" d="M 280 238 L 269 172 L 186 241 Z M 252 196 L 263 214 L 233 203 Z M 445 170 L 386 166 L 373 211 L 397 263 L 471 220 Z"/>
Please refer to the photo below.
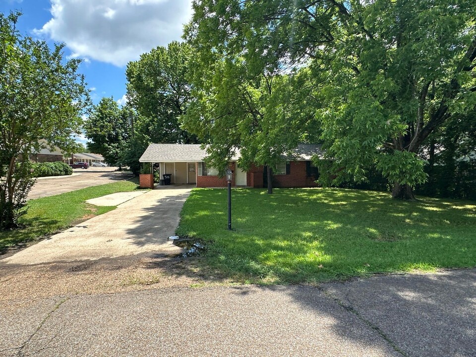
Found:
<path fill-rule="evenodd" d="M 39 30 L 73 56 L 124 66 L 180 40 L 191 0 L 51 0 L 53 18 Z"/>

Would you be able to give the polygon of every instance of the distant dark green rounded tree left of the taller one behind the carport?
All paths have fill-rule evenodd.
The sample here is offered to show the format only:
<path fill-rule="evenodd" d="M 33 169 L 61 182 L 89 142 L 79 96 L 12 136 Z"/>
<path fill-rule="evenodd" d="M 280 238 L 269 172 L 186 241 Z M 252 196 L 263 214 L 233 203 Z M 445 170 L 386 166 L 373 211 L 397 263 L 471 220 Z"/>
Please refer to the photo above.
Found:
<path fill-rule="evenodd" d="M 120 167 L 122 150 L 131 135 L 132 115 L 128 107 L 119 109 L 113 97 L 102 98 L 84 123 L 86 137 L 91 140 L 88 150 L 101 154 L 109 165 Z"/>

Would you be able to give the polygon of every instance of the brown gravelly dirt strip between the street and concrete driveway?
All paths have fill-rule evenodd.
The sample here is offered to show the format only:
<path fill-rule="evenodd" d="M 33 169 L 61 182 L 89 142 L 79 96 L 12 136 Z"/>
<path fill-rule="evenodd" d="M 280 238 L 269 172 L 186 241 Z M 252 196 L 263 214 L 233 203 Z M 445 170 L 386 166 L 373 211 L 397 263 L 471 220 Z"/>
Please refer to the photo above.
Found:
<path fill-rule="evenodd" d="M 0 267 L 0 303 L 37 298 L 224 284 L 198 258 L 134 255 Z M 4 303 L 8 301 L 8 303 Z"/>

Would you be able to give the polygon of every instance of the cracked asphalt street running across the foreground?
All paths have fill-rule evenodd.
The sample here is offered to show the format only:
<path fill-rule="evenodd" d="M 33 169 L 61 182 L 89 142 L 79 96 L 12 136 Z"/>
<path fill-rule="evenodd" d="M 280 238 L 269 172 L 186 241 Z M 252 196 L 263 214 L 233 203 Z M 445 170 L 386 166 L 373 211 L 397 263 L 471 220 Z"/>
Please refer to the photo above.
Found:
<path fill-rule="evenodd" d="M 0 309 L 0 354 L 471 357 L 475 278 L 461 270 L 15 301 Z"/>

